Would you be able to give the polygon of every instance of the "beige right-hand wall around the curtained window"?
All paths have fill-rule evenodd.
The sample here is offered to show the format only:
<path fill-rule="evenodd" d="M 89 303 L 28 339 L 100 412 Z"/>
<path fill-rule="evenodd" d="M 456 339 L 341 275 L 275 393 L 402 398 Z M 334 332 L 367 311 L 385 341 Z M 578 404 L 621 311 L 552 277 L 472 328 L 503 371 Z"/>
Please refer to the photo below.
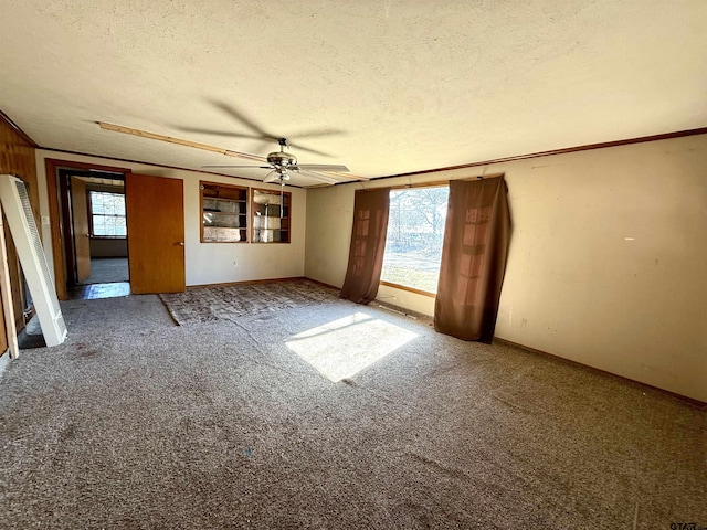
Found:
<path fill-rule="evenodd" d="M 410 182 L 482 172 L 506 174 L 514 220 L 496 336 L 707 401 L 707 135 Z M 361 186 L 308 191 L 306 276 L 342 284 Z M 432 298 L 383 296 L 433 312 Z"/>

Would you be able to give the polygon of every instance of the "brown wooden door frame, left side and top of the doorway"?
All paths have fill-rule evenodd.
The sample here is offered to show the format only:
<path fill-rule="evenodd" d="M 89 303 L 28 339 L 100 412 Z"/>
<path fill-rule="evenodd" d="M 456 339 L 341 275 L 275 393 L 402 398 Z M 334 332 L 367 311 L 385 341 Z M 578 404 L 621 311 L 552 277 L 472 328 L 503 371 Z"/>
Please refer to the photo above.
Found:
<path fill-rule="evenodd" d="M 64 255 L 65 241 L 62 233 L 62 214 L 60 208 L 60 186 L 59 186 L 59 170 L 60 169 L 75 169 L 81 171 L 87 171 L 96 169 L 99 171 L 108 171 L 113 173 L 130 173 L 129 168 L 118 168 L 110 166 L 102 166 L 98 163 L 75 162 L 72 160 L 61 160 L 56 158 L 44 159 L 44 168 L 46 170 L 46 194 L 49 202 L 49 222 L 52 234 L 52 258 L 54 262 L 54 285 L 56 288 L 56 297 L 60 300 L 66 300 L 68 293 L 66 290 L 67 271 L 66 271 L 66 257 Z"/>

